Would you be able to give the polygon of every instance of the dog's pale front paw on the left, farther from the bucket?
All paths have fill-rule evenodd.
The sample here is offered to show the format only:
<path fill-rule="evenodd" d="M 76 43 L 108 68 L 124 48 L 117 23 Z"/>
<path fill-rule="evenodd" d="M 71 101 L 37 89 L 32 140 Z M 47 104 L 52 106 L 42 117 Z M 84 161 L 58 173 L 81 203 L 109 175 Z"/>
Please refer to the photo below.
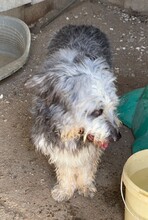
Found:
<path fill-rule="evenodd" d="M 69 200 L 72 197 L 73 193 L 73 190 L 66 190 L 60 185 L 56 185 L 51 191 L 52 198 L 57 202 Z"/>

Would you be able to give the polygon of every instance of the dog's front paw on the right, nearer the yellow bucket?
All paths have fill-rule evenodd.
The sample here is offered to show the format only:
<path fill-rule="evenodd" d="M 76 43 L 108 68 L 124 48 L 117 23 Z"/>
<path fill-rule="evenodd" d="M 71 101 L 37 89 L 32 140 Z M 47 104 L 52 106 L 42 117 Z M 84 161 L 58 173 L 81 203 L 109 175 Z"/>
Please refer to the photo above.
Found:
<path fill-rule="evenodd" d="M 90 185 L 82 186 L 78 190 L 79 195 L 83 195 L 84 197 L 90 197 L 90 198 L 93 198 L 96 192 L 97 189 L 93 183 Z"/>

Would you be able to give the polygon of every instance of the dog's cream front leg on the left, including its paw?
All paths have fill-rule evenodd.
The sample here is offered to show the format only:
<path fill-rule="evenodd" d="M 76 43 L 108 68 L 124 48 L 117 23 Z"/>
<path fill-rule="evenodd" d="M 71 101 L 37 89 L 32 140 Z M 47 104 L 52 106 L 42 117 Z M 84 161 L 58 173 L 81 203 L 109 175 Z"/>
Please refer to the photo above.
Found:
<path fill-rule="evenodd" d="M 52 197 L 58 202 L 69 200 L 76 190 L 75 170 L 66 165 L 56 166 L 57 185 L 51 191 Z"/>

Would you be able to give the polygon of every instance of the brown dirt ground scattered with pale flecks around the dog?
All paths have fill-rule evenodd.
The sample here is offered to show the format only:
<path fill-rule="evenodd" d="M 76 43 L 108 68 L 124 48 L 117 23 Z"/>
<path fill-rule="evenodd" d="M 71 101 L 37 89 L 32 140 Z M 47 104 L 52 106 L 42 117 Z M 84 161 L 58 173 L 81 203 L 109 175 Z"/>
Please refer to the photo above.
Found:
<path fill-rule="evenodd" d="M 80 1 L 42 32 L 32 34 L 27 64 L 0 82 L 1 220 L 123 219 L 120 177 L 133 141 L 128 128 L 122 127 L 122 139 L 102 157 L 96 196 L 89 199 L 75 193 L 70 201 L 59 204 L 50 193 L 56 181 L 54 169 L 35 152 L 30 140 L 31 95 L 24 83 L 39 71 L 53 34 L 67 24 L 95 25 L 108 35 L 119 95 L 148 84 L 148 23 L 141 17 L 98 1 Z"/>

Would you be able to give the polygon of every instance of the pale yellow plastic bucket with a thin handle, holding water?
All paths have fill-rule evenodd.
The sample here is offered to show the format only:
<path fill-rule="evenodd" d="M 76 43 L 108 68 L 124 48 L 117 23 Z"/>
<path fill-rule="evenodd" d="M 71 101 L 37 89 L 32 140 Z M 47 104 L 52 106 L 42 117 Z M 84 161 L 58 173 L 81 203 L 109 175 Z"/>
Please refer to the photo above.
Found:
<path fill-rule="evenodd" d="M 125 204 L 124 220 L 148 220 L 148 150 L 133 154 L 125 163 L 121 196 Z"/>

